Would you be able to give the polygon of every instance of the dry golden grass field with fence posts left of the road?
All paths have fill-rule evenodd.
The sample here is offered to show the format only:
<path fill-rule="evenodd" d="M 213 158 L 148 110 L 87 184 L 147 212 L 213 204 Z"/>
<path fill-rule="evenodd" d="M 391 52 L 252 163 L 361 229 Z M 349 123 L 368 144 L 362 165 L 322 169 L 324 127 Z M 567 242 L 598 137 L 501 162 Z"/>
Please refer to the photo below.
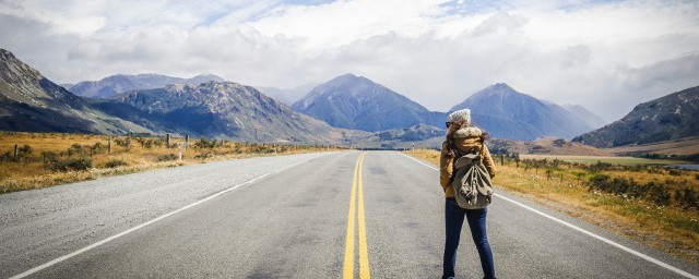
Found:
<path fill-rule="evenodd" d="M 90 134 L 0 132 L 0 193 L 155 168 L 329 149 L 199 138 L 190 138 L 185 148 L 185 138 L 170 138 L 167 147 L 165 137 L 114 136 L 109 153 L 109 138 Z"/>

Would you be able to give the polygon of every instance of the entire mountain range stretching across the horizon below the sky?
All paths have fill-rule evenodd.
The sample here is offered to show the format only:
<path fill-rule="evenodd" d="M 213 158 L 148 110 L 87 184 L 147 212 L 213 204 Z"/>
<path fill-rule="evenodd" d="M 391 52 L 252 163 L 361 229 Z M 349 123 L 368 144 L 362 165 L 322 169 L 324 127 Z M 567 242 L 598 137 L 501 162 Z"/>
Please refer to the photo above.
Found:
<path fill-rule="evenodd" d="M 61 86 L 0 50 L 0 130 L 170 133 L 387 148 L 441 143 L 449 111 L 429 111 L 367 77 L 344 74 L 305 87 L 309 92 L 303 97 L 304 86 L 263 87 L 274 96 L 270 97 L 211 74 L 191 78 L 119 74 Z M 473 121 L 493 137 L 553 136 L 609 147 L 699 135 L 692 121 L 699 111 L 698 88 L 641 104 L 608 125 L 581 106 L 540 100 L 505 83 L 464 96 L 450 111 L 471 109 Z"/>

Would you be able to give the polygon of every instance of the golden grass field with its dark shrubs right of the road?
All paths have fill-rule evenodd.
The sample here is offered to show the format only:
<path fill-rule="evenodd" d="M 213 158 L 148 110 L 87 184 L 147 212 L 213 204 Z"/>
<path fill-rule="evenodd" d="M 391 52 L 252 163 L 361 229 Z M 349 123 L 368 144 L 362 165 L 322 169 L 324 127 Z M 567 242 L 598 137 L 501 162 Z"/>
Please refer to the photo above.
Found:
<path fill-rule="evenodd" d="M 439 163 L 439 151 L 406 155 Z M 579 156 L 576 156 L 579 157 Z M 497 186 L 699 264 L 699 172 L 533 157 L 500 165 Z M 636 158 L 633 158 L 636 159 Z M 647 161 L 640 163 L 648 163 Z M 519 165 L 519 166 L 518 166 Z M 554 167 L 555 166 L 555 167 Z M 496 186 L 496 191 L 497 191 Z M 690 193 L 690 194 L 687 194 Z M 694 198 L 694 199 L 692 199 Z"/>

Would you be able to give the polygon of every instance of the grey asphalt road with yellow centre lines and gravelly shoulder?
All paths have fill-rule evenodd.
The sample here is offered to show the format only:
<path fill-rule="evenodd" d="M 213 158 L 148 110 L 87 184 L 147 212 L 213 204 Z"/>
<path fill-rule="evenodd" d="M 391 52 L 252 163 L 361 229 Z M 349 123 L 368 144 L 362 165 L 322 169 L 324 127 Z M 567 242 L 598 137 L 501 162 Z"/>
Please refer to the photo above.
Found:
<path fill-rule="evenodd" d="M 487 226 L 499 278 L 699 274 L 696 265 L 496 191 Z M 4 194 L 0 205 L 0 278 L 441 275 L 438 173 L 394 151 L 162 169 Z M 465 226 L 457 275 L 481 278 Z"/>

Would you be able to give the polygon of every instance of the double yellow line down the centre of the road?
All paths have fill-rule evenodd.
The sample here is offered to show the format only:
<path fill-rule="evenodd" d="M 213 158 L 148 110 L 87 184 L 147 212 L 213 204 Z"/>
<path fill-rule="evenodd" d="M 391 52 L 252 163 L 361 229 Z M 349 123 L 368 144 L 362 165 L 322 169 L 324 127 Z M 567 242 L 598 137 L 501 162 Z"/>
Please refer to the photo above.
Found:
<path fill-rule="evenodd" d="M 345 263 L 342 272 L 343 279 L 354 278 L 354 219 L 357 205 L 357 194 L 359 196 L 357 220 L 359 225 L 359 278 L 371 278 L 369 272 L 369 251 L 367 250 L 367 230 L 364 220 L 364 194 L 362 187 L 362 167 L 366 153 L 359 155 L 354 167 L 354 179 L 352 181 L 352 197 L 350 197 L 350 214 L 347 216 L 347 239 L 345 241 Z"/>

